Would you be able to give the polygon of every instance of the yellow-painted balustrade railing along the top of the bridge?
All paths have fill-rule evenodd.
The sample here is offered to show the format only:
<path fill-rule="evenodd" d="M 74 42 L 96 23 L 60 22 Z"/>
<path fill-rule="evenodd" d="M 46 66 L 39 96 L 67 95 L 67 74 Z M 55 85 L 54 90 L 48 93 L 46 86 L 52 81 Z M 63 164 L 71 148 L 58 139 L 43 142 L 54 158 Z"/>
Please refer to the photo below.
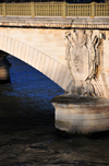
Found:
<path fill-rule="evenodd" d="M 2 16 L 109 16 L 109 3 L 0 3 Z"/>

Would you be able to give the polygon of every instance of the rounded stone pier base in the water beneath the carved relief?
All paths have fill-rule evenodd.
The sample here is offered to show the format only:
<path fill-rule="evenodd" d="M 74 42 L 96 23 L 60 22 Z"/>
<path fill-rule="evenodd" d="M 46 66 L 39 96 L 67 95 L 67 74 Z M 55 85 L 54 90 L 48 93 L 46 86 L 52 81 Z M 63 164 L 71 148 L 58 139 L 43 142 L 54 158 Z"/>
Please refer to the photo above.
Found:
<path fill-rule="evenodd" d="M 64 134 L 90 134 L 109 130 L 109 99 L 74 94 L 52 98 L 55 126 Z"/>

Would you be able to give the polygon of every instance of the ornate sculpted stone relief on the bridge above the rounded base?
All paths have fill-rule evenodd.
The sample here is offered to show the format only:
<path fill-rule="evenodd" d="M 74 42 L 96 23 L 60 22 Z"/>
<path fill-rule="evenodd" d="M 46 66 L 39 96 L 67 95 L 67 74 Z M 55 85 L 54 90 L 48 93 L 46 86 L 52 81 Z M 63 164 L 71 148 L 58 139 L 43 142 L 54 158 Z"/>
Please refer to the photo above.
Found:
<path fill-rule="evenodd" d="M 76 29 L 65 33 L 68 40 L 65 59 L 72 74 L 66 93 L 96 96 L 92 80 L 97 78 L 100 66 L 99 33 Z"/>

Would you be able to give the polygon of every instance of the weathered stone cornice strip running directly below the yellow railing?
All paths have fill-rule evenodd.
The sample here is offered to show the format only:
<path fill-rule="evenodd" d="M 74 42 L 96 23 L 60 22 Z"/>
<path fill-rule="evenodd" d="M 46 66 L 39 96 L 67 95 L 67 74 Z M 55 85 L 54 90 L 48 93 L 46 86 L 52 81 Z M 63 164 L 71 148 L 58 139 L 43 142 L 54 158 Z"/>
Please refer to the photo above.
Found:
<path fill-rule="evenodd" d="M 12 17 L 0 16 L 0 26 L 48 28 L 109 28 L 109 17 Z"/>

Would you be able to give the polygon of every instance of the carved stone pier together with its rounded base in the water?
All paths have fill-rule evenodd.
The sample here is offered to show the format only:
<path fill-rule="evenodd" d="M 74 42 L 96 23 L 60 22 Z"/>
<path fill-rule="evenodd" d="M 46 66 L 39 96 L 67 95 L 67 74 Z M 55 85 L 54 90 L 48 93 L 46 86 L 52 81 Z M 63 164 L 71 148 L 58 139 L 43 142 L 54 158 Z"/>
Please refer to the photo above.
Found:
<path fill-rule="evenodd" d="M 70 134 L 109 130 L 109 97 L 104 73 L 104 32 L 66 33 L 65 59 L 72 80 L 65 94 L 52 98 L 56 129 Z M 104 93 L 101 86 L 104 85 Z"/>

